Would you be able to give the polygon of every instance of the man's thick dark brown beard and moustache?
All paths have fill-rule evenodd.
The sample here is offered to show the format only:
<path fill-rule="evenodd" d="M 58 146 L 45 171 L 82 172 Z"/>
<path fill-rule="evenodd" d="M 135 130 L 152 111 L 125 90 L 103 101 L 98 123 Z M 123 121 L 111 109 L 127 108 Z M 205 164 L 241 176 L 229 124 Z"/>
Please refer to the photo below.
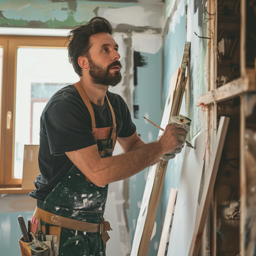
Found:
<path fill-rule="evenodd" d="M 122 69 L 122 64 L 119 60 L 115 60 L 112 64 L 108 65 L 107 68 L 101 66 L 101 64 L 93 62 L 93 60 L 88 57 L 90 64 L 89 75 L 91 76 L 91 81 L 95 85 L 110 85 L 116 86 L 122 80 L 122 75 L 120 70 Z M 114 66 L 119 66 L 119 70 L 110 73 L 110 69 Z"/>

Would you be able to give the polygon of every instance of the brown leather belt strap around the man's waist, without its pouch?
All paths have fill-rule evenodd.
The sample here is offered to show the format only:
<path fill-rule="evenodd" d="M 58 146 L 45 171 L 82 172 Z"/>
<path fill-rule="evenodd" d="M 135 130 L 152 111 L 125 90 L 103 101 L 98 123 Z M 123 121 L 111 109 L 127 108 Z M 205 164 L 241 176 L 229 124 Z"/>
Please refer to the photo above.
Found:
<path fill-rule="evenodd" d="M 110 231 L 112 229 L 109 222 L 104 221 L 104 219 L 102 219 L 101 223 L 99 224 L 89 223 L 80 220 L 65 218 L 57 214 L 44 211 L 40 208 L 36 208 L 33 216 L 37 219 L 41 218 L 41 221 L 65 229 L 75 229 L 82 232 L 99 233 L 105 244 L 110 239 L 107 231 Z"/>

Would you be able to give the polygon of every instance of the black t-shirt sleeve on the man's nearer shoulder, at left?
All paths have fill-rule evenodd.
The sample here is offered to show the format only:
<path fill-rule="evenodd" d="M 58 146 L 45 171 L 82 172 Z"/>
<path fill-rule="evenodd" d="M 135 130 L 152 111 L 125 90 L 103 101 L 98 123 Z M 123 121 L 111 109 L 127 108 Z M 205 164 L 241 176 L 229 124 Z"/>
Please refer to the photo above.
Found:
<path fill-rule="evenodd" d="M 88 112 L 88 111 L 87 111 Z M 91 117 L 83 107 L 68 100 L 53 101 L 44 112 L 51 154 L 83 149 L 96 144 L 91 133 Z"/>

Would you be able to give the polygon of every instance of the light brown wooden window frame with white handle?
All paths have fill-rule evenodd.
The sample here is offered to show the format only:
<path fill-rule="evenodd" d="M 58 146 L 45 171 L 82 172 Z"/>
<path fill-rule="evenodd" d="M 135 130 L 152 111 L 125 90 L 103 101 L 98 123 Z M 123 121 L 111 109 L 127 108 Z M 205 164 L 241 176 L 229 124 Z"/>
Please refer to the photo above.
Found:
<path fill-rule="evenodd" d="M 3 48 L 2 93 L 0 108 L 0 193 L 26 193 L 21 189 L 21 178 L 14 172 L 14 136 L 16 109 L 16 64 L 18 48 L 67 48 L 67 37 L 1 36 Z M 11 111 L 11 126 L 7 129 L 7 112 Z M 13 189 L 12 189 L 13 188 Z M 12 193 L 12 192 L 11 192 Z"/>

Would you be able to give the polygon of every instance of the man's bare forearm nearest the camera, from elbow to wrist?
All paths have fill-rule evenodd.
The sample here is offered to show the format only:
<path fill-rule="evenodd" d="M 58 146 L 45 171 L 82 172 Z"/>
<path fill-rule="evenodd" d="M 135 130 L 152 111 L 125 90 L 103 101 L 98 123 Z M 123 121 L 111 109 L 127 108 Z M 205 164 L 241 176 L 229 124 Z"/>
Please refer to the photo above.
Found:
<path fill-rule="evenodd" d="M 164 154 L 163 149 L 157 142 L 144 144 L 139 149 L 107 158 L 101 158 L 97 164 L 94 175 L 104 177 L 99 181 L 99 185 L 105 186 L 114 181 L 126 179 L 139 171 L 158 162 L 160 156 Z M 96 184 L 97 185 L 97 184 Z"/>

